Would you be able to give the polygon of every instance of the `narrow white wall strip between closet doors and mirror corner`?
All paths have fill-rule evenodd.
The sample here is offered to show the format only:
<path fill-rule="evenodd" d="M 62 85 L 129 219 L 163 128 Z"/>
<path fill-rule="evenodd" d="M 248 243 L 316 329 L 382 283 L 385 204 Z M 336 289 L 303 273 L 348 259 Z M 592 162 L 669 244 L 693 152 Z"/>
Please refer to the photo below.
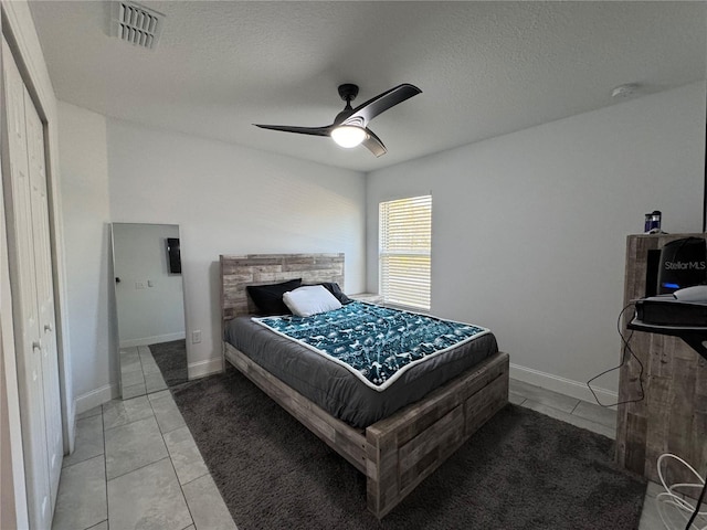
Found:
<path fill-rule="evenodd" d="M 59 104 L 68 327 L 77 412 L 117 395 L 105 117 Z"/>

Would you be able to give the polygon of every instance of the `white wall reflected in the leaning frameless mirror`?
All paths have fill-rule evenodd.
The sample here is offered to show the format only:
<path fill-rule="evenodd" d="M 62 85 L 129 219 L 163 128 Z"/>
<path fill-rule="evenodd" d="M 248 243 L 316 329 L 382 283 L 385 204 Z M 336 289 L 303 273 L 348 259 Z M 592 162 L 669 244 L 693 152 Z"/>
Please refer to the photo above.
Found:
<path fill-rule="evenodd" d="M 149 346 L 184 338 L 181 274 L 169 272 L 167 239 L 173 224 L 113 225 L 118 346 Z"/>

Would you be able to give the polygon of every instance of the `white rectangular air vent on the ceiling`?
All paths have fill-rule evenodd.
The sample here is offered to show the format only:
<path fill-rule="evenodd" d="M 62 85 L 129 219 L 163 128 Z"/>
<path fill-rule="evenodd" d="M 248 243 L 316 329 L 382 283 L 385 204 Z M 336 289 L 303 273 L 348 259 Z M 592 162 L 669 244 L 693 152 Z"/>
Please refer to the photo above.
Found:
<path fill-rule="evenodd" d="M 152 50 L 162 32 L 165 15 L 130 1 L 114 1 L 110 34 L 136 46 Z"/>

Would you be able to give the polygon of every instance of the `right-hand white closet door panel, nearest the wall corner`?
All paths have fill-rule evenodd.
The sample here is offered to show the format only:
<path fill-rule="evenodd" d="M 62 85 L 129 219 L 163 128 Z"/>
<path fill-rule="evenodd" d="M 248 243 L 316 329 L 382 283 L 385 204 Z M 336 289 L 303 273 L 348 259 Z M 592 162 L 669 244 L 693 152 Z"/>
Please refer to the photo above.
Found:
<path fill-rule="evenodd" d="M 49 233 L 49 197 L 46 193 L 46 167 L 44 163 L 44 129 L 27 89 L 24 91 L 24 121 L 27 124 L 30 197 L 32 202 L 32 241 L 42 350 L 46 448 L 49 452 L 52 506 L 54 506 L 64 446 L 62 438 L 61 391 L 59 388 L 59 357 L 56 353 L 56 322 L 54 318 L 52 248 Z"/>

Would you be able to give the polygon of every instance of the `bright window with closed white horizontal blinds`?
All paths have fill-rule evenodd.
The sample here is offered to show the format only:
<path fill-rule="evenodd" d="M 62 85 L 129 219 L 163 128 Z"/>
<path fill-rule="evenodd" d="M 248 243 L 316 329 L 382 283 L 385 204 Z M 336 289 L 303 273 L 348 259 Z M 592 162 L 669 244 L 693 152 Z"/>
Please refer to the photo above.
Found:
<path fill-rule="evenodd" d="M 432 195 L 381 202 L 378 241 L 383 303 L 430 309 Z"/>

